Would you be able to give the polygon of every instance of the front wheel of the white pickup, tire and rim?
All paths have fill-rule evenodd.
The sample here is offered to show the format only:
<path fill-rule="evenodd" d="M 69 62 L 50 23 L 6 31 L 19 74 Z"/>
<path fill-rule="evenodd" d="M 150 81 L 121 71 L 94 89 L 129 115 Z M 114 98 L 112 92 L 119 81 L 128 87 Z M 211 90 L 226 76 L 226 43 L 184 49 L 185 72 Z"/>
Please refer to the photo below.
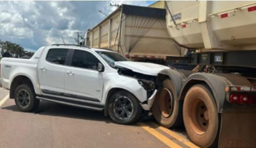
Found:
<path fill-rule="evenodd" d="M 131 124 L 139 120 L 142 108 L 138 99 L 130 92 L 120 90 L 109 98 L 108 113 L 119 124 Z"/>

